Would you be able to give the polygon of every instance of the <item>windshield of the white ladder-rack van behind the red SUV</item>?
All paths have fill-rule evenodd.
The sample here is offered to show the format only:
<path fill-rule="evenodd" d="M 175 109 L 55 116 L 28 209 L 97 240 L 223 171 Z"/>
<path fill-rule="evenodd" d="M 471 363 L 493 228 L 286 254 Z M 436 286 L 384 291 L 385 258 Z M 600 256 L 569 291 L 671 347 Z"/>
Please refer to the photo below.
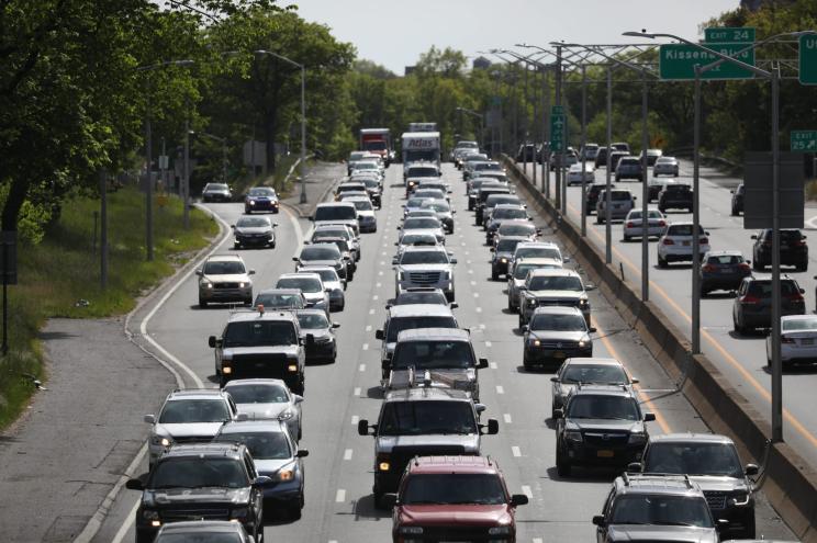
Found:
<path fill-rule="evenodd" d="M 378 425 L 380 435 L 477 433 L 470 401 L 387 401 Z"/>

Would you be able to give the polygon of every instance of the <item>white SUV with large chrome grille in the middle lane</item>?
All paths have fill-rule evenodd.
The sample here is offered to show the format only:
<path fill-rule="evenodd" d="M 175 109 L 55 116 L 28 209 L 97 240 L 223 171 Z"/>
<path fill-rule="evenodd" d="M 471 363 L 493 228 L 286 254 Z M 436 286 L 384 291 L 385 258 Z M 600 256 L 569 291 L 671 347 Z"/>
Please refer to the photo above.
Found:
<path fill-rule="evenodd" d="M 412 286 L 436 286 L 443 290 L 449 302 L 454 302 L 456 263 L 457 259 L 444 247 L 406 247 L 392 259 L 394 295 Z"/>

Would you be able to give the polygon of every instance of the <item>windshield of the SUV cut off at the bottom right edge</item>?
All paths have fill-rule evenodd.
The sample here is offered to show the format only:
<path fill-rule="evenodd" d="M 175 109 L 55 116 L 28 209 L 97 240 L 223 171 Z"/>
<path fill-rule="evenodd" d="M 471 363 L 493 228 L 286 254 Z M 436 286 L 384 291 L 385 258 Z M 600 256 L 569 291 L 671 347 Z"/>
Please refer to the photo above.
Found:
<path fill-rule="evenodd" d="M 662 524 L 713 528 L 704 498 L 628 495 L 616 499 L 609 524 Z"/>

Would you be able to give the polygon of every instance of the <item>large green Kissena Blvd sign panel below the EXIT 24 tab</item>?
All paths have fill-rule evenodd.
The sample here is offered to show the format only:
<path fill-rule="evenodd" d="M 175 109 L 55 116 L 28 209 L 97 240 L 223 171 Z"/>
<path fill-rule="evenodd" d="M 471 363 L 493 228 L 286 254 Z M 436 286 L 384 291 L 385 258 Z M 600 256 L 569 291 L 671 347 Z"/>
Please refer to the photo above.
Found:
<path fill-rule="evenodd" d="M 735 56 L 738 60 L 754 66 L 754 49 L 737 55 L 746 48 L 746 44 L 703 44 L 713 50 L 723 55 Z M 658 70 L 663 80 L 689 80 L 695 79 L 695 65 L 706 66 L 718 60 L 720 57 L 709 52 L 687 44 L 664 44 L 661 45 L 658 56 Z M 741 68 L 734 63 L 725 61 L 717 68 L 705 71 L 701 75 L 703 80 L 717 79 L 751 79 L 754 73 Z"/>

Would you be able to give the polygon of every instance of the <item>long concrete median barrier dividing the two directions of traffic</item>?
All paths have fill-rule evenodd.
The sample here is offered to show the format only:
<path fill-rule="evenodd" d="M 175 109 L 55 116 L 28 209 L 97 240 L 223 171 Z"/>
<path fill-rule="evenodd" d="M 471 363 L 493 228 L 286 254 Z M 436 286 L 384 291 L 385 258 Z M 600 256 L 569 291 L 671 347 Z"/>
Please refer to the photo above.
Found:
<path fill-rule="evenodd" d="M 768 445 L 771 425 L 703 354 L 692 355 L 684 335 L 652 302 L 639 297 L 640 284 L 604 261 L 604 252 L 582 238 L 579 225 L 556 210 L 507 157 L 503 161 L 521 195 L 558 230 L 568 252 L 595 282 L 667 373 L 681 382 L 686 396 L 706 425 L 735 440 L 745 459 L 766 459 L 763 490 L 769 501 L 803 542 L 817 543 L 817 471 L 786 443 Z M 634 278 L 638 280 L 638 278 Z M 683 380 L 683 381 L 682 381 Z"/>

